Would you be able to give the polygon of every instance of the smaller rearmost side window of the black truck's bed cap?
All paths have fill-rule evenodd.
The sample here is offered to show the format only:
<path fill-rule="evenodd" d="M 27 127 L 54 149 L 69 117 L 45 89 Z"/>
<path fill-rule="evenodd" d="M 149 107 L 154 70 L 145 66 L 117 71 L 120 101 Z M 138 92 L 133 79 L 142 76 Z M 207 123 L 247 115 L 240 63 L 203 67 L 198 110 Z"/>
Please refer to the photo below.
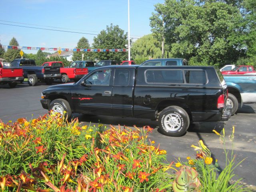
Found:
<path fill-rule="evenodd" d="M 206 74 L 202 70 L 187 70 L 185 71 L 185 78 L 187 83 L 192 84 L 206 84 Z"/>

